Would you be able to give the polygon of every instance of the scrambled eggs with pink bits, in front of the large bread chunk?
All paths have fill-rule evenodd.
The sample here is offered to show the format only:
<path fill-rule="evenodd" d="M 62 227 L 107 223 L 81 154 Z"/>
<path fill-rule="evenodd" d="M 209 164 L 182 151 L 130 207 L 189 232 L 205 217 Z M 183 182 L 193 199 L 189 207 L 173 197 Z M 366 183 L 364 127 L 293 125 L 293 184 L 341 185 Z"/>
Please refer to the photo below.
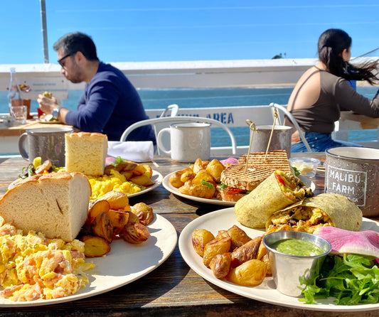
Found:
<path fill-rule="evenodd" d="M 1 219 L 2 220 L 2 219 Z M 84 243 L 47 239 L 41 232 L 22 235 L 9 224 L 0 227 L 0 296 L 11 301 L 57 299 L 89 283 Z"/>

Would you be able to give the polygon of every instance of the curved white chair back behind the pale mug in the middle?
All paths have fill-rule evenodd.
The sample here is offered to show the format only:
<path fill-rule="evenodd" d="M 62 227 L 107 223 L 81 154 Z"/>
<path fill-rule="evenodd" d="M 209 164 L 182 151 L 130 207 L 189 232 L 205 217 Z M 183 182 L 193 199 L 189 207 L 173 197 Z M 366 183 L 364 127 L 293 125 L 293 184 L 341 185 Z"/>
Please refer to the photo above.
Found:
<path fill-rule="evenodd" d="M 169 125 L 171 123 L 179 123 L 179 122 L 205 122 L 205 123 L 212 124 L 215 127 L 220 127 L 222 129 L 224 129 L 230 136 L 230 141 L 232 143 L 232 145 L 231 145 L 232 154 L 237 153 L 237 144 L 235 142 L 235 136 L 234 136 L 233 132 L 230 131 L 230 129 L 228 127 L 226 127 L 225 124 L 223 124 L 223 123 L 221 123 L 215 119 L 209 119 L 209 118 L 205 118 L 205 117 L 176 116 L 176 117 L 159 117 L 159 118 L 142 120 L 142 121 L 136 122 L 136 123 L 132 124 L 131 126 L 127 127 L 127 129 L 125 129 L 125 131 L 122 134 L 119 141 L 126 141 L 127 136 L 129 136 L 130 132 L 132 132 L 134 129 L 137 129 L 139 127 L 144 127 L 146 125 L 151 124 L 154 127 L 154 132 L 157 136 L 157 134 L 159 132 L 159 131 L 156 131 L 156 129 L 155 129 L 155 126 L 157 124 L 159 124 L 161 126 L 161 124 L 164 123 L 164 124 L 166 124 L 166 127 L 169 127 Z M 216 149 L 216 148 L 210 148 L 210 149 L 212 150 L 212 149 Z M 159 149 L 158 149 L 158 154 L 160 154 Z"/>

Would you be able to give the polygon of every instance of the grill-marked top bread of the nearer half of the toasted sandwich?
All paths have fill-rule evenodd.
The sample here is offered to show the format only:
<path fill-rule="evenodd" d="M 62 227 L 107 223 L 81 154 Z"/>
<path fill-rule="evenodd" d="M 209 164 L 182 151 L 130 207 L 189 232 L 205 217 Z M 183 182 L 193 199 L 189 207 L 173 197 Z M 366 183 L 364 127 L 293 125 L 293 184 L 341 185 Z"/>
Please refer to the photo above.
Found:
<path fill-rule="evenodd" d="M 227 166 L 221 173 L 221 181 L 228 187 L 253 190 L 272 173 L 271 168 L 247 167 L 242 164 Z"/>

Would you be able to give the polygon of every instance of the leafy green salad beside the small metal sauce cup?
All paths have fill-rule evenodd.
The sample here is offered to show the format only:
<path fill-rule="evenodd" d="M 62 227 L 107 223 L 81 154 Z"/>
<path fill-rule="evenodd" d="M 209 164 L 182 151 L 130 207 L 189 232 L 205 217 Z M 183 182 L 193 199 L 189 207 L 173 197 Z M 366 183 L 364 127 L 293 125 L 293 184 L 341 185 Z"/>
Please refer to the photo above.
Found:
<path fill-rule="evenodd" d="M 375 257 L 360 254 L 328 255 L 319 274 L 310 279 L 301 277 L 305 284 L 302 294 L 305 303 L 316 299 L 336 297 L 337 305 L 378 303 L 379 268 Z"/>

